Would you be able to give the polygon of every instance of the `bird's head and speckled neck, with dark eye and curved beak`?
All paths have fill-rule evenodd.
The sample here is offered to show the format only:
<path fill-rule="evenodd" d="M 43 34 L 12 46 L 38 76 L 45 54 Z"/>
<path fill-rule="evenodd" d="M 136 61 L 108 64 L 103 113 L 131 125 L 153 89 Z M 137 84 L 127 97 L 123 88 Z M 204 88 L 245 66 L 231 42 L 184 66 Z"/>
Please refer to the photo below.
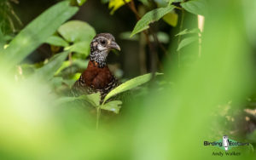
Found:
<path fill-rule="evenodd" d="M 119 45 L 110 33 L 100 33 L 90 43 L 90 60 L 95 61 L 99 67 L 106 66 L 108 53 L 111 49 L 120 50 Z"/>

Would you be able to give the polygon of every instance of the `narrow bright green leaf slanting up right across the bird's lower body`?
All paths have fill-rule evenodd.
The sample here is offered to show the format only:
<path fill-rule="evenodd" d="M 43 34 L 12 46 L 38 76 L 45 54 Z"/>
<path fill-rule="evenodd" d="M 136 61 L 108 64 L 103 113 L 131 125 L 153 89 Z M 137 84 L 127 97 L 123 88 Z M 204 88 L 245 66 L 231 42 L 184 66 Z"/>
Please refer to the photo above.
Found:
<path fill-rule="evenodd" d="M 155 73 L 155 75 L 161 75 L 162 73 Z M 125 92 L 126 90 L 136 88 L 139 85 L 142 85 L 143 83 L 147 83 L 150 78 L 152 77 L 152 73 L 144 74 L 142 76 L 134 77 L 125 83 L 120 84 L 117 88 L 111 90 L 105 97 L 103 104 L 106 100 L 113 97 L 113 95 Z"/>

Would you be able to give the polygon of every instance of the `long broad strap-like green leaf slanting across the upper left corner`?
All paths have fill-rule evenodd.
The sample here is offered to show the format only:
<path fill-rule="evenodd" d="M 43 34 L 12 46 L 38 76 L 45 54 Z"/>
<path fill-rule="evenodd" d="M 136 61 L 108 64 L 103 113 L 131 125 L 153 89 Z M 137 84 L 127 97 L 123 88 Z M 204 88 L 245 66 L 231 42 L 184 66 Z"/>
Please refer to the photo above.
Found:
<path fill-rule="evenodd" d="M 67 1 L 57 3 L 33 20 L 4 49 L 4 66 L 14 66 L 46 41 L 61 24 L 78 11 Z M 2 58 L 1 58 L 2 59 Z M 0 60 L 1 60 L 0 59 Z M 3 59 L 2 59 L 3 60 Z M 3 63 L 1 63 L 3 64 Z"/>

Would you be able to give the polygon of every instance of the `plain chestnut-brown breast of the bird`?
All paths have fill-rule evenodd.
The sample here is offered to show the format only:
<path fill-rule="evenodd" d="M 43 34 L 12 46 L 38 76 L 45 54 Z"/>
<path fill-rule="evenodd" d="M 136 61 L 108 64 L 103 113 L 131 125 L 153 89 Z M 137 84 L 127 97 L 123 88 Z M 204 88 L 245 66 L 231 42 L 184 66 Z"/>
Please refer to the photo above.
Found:
<path fill-rule="evenodd" d="M 108 83 L 113 81 L 113 75 L 111 71 L 109 71 L 108 66 L 100 68 L 95 61 L 89 62 L 82 77 L 84 77 L 86 86 L 92 89 L 104 89 L 108 87 Z"/>

